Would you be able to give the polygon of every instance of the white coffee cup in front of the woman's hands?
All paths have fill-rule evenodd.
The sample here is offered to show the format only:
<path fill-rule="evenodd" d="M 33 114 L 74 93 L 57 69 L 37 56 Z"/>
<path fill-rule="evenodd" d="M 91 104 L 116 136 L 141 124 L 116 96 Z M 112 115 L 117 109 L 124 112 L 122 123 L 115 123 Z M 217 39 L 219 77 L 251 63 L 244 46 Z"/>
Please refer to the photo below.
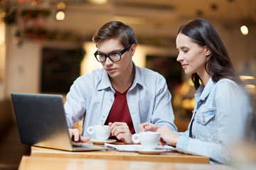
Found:
<path fill-rule="evenodd" d="M 159 132 L 139 132 L 132 135 L 132 142 L 141 143 L 143 149 L 155 149 L 160 141 Z"/>

